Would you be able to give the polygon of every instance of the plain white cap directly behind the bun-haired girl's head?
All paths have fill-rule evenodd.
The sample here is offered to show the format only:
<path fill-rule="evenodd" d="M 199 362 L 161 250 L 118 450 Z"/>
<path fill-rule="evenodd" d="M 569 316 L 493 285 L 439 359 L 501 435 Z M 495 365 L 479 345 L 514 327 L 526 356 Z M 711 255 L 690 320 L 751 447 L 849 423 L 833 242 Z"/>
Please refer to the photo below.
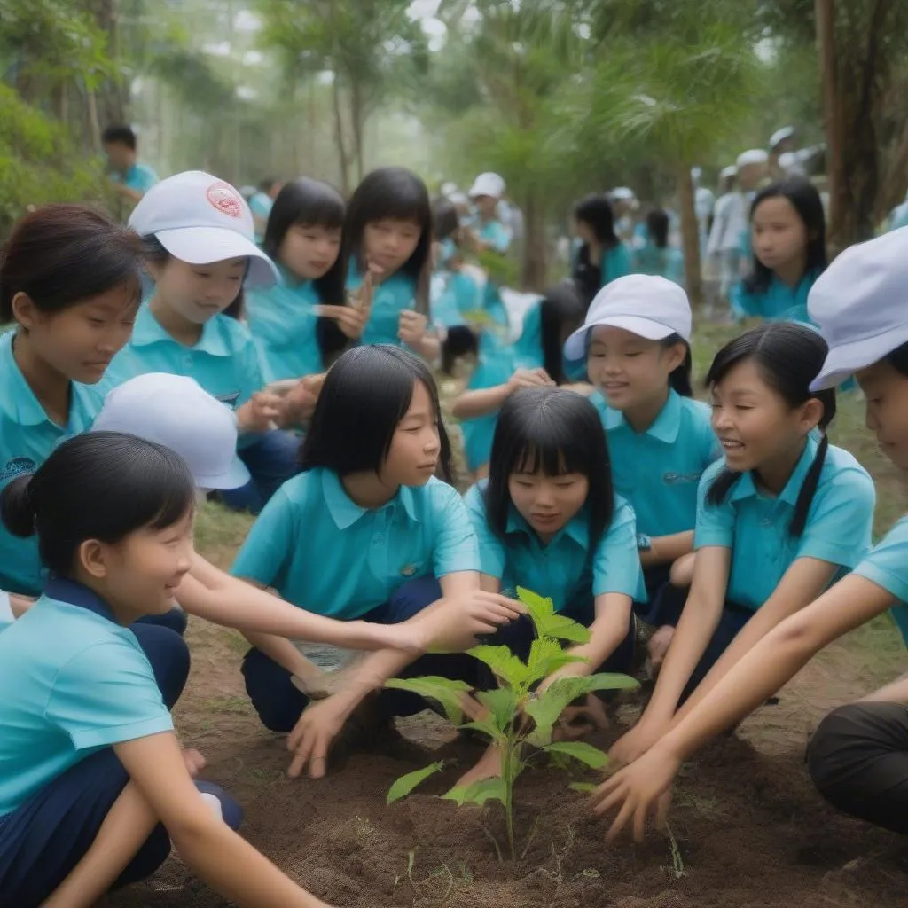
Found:
<path fill-rule="evenodd" d="M 232 410 L 184 375 L 149 372 L 106 398 L 92 430 L 125 432 L 176 451 L 200 489 L 239 489 L 249 470 L 236 456 Z"/>

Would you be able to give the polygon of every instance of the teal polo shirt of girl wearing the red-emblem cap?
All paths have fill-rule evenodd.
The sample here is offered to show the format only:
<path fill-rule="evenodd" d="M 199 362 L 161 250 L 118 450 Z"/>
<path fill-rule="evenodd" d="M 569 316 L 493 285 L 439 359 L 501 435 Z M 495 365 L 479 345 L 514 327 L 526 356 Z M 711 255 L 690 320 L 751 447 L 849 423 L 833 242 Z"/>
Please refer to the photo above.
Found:
<path fill-rule="evenodd" d="M 187 347 L 164 331 L 147 303 L 136 316 L 133 339 L 114 357 L 110 372 L 118 383 L 146 372 L 185 375 L 232 410 L 265 384 L 252 335 L 239 321 L 215 315 L 202 325 L 198 343 Z M 256 438 L 241 439 L 241 447 Z"/>

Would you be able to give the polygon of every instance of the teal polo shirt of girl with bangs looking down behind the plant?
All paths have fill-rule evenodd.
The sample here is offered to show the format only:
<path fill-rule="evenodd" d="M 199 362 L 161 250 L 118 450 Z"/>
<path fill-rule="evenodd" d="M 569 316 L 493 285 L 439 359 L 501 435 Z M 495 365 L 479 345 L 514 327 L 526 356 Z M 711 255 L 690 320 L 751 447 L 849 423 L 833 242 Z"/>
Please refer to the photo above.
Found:
<path fill-rule="evenodd" d="M 646 601 L 634 512 L 623 498 L 616 496 L 612 522 L 595 548 L 590 545 L 587 508 L 544 546 L 513 504 L 505 538 L 489 527 L 483 498 L 487 486 L 487 480 L 477 483 L 465 501 L 479 538 L 480 569 L 500 580 L 506 595 L 514 596 L 518 586 L 524 587 L 550 597 L 558 612 L 588 609 L 605 593 Z"/>

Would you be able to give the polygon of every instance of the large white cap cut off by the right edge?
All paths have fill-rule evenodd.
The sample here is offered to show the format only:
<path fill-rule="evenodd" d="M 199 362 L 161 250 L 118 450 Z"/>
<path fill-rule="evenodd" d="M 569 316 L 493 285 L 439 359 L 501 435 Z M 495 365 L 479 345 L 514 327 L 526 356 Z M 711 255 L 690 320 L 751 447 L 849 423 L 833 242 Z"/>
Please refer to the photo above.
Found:
<path fill-rule="evenodd" d="M 812 390 L 834 388 L 908 343 L 908 227 L 851 246 L 807 294 L 829 352 Z"/>

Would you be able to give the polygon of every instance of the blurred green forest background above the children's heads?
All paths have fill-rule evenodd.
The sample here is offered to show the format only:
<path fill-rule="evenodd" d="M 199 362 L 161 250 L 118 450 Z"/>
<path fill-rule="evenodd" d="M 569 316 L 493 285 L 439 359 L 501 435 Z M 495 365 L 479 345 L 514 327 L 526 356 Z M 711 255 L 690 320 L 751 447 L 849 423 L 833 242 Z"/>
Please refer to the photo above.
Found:
<path fill-rule="evenodd" d="M 691 168 L 795 124 L 827 143 L 834 249 L 908 186 L 903 0 L 0 0 L 0 238 L 26 206 L 103 200 L 101 133 L 162 176 L 401 164 L 430 188 L 497 171 L 521 282 L 586 192 L 692 223 Z"/>

